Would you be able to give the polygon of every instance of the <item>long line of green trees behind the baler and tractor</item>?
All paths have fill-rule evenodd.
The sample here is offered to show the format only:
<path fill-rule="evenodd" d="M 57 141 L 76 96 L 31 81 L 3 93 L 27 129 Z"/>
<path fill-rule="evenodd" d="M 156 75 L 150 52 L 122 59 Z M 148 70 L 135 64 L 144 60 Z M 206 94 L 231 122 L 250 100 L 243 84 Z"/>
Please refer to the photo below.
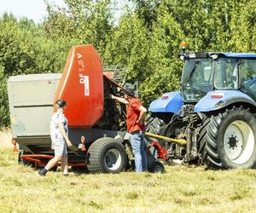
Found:
<path fill-rule="evenodd" d="M 181 42 L 194 51 L 256 51 L 253 0 L 127 0 L 118 23 L 116 3 L 66 0 L 60 8 L 46 2 L 48 16 L 40 24 L 0 17 L 0 126 L 9 125 L 9 76 L 62 72 L 73 45 L 92 43 L 105 66 L 126 66 L 146 107 L 179 89 Z"/>

